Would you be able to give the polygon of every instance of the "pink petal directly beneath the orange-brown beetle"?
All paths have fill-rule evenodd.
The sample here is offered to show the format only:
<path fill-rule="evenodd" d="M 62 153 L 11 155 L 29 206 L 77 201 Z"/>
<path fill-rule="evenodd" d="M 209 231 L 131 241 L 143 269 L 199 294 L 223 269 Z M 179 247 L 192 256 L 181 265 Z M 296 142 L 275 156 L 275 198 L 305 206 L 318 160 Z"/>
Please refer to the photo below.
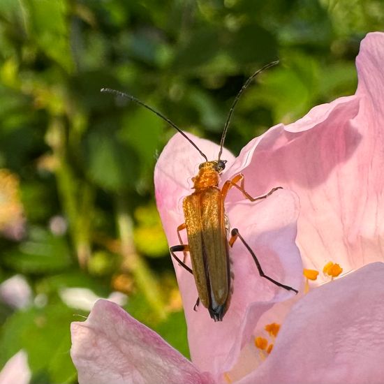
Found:
<path fill-rule="evenodd" d="M 190 137 L 194 142 L 201 142 L 192 135 Z M 197 173 L 198 164 L 202 161 L 188 143 L 182 147 L 184 141 L 181 136 L 170 140 L 158 159 L 155 171 L 156 200 L 170 246 L 179 244 L 176 228 L 184 222 L 182 198 L 192 192 L 188 189 L 192 185 L 186 183 L 187 177 L 190 179 Z M 217 156 L 217 147 L 212 145 L 212 148 L 213 156 Z M 181 152 L 178 152 L 179 149 Z M 193 156 L 195 166 L 191 163 Z M 228 155 L 223 158 L 228 158 Z M 224 172 L 222 182 L 226 179 Z M 231 194 L 232 191 L 228 196 Z M 265 273 L 281 283 L 300 288 L 302 264 L 295 245 L 299 207 L 295 195 L 288 191 L 276 191 L 262 202 L 252 203 L 243 198 L 241 203 L 228 204 L 226 208 L 231 228 L 238 228 L 246 242 L 258 253 Z M 185 231 L 182 239 L 186 244 Z M 214 323 L 202 305 L 198 311 L 193 311 L 198 298 L 195 281 L 189 272 L 174 263 L 186 313 L 193 363 L 217 378 L 235 363 L 259 316 L 274 302 L 293 295 L 259 276 L 251 255 L 239 240 L 230 251 L 230 257 L 235 273 L 234 294 L 230 309 L 221 323 Z M 260 302 L 269 304 L 261 305 Z"/>

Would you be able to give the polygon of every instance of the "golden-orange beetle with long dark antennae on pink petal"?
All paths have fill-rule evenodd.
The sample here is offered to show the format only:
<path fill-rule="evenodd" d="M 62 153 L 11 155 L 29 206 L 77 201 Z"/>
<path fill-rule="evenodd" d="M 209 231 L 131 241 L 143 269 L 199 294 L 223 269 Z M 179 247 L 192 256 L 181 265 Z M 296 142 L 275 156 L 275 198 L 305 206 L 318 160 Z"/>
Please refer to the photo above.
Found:
<path fill-rule="evenodd" d="M 281 186 L 271 189 L 271 191 L 265 193 L 264 195 L 253 198 L 244 189 L 244 175 L 240 173 L 235 177 L 232 177 L 232 179 L 224 182 L 223 187 L 221 189 L 219 188 L 220 175 L 226 168 L 226 160 L 221 159 L 221 154 L 223 152 L 226 132 L 228 130 L 235 105 L 237 104 L 237 101 L 239 101 L 244 89 L 248 87 L 250 82 L 258 75 L 258 73 L 278 63 L 279 61 L 273 61 L 272 63 L 267 64 L 253 73 L 253 75 L 246 80 L 242 89 L 240 89 L 235 97 L 235 100 L 232 102 L 232 106 L 221 135 L 218 158 L 212 161 L 208 160 L 207 156 L 179 127 L 176 126 L 176 124 L 170 121 L 167 117 L 161 115 L 160 112 L 154 110 L 149 105 L 142 103 L 142 101 L 137 98 L 125 94 L 124 92 L 116 91 L 115 89 L 101 89 L 102 92 L 108 92 L 129 98 L 131 101 L 134 101 L 148 110 L 151 110 L 158 117 L 161 117 L 161 119 L 167 121 L 168 124 L 173 126 L 184 136 L 184 138 L 186 138 L 186 140 L 189 140 L 191 145 L 193 145 L 193 147 L 198 150 L 200 155 L 205 158 L 205 161 L 199 165 L 198 175 L 192 178 L 192 188 L 194 189 L 193 193 L 191 193 L 191 195 L 187 195 L 183 200 L 185 221 L 177 227 L 177 237 L 180 244 L 170 246 L 170 253 L 172 257 L 177 260 L 179 265 L 184 267 L 184 269 L 186 269 L 189 273 L 193 274 L 195 285 L 198 290 L 198 299 L 193 309 L 196 310 L 201 302 L 201 304 L 208 309 L 209 315 L 215 322 L 223 320 L 223 316 L 226 314 L 226 311 L 228 311 L 230 306 L 230 297 L 232 295 L 232 273 L 230 271 L 231 263 L 229 248 L 233 246 L 237 239 L 244 244 L 245 248 L 252 256 L 260 276 L 271 281 L 271 283 L 274 283 L 276 286 L 298 293 L 295 288 L 286 286 L 283 283 L 267 276 L 263 272 L 256 254 L 246 243 L 237 228 L 233 228 L 230 231 L 230 239 L 228 240 L 229 226 L 224 207 L 228 191 L 231 188 L 236 188 L 242 192 L 246 199 L 251 202 L 256 202 L 267 198 L 269 195 L 274 193 L 274 191 L 281 189 Z M 182 230 L 186 230 L 188 244 L 183 244 L 182 236 L 180 235 Z M 184 254 L 183 260 L 176 255 L 177 252 L 182 252 Z M 186 265 L 188 253 L 191 259 L 192 268 Z"/>

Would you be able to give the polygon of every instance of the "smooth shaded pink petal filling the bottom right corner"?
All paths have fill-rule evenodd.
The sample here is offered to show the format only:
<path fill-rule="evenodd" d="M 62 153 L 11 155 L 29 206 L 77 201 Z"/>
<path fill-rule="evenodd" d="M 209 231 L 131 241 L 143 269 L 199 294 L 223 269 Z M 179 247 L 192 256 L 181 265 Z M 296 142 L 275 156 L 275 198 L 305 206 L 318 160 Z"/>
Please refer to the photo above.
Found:
<path fill-rule="evenodd" d="M 384 382 L 384 264 L 326 283 L 288 314 L 267 360 L 238 384 Z"/>

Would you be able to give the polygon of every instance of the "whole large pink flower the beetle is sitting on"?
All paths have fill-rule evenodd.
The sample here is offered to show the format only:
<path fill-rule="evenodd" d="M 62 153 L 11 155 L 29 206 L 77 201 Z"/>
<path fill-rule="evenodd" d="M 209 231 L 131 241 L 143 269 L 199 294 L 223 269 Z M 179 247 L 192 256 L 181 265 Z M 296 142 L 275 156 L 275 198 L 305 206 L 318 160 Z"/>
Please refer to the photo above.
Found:
<path fill-rule="evenodd" d="M 258 275 L 236 242 L 230 308 L 214 323 L 201 305 L 193 311 L 193 276 L 175 263 L 193 365 L 115 304 L 99 301 L 87 321 L 73 323 L 80 384 L 384 382 L 384 264 L 372 263 L 383 260 L 383 62 L 384 34 L 369 34 L 357 57 L 354 96 L 272 127 L 237 158 L 221 157 L 228 160 L 223 182 L 242 172 L 253 196 L 284 187 L 259 203 L 235 189 L 226 200 L 231 228 L 239 229 L 266 274 L 294 288 L 302 283 L 299 205 L 290 190 L 300 199 L 297 244 L 304 267 L 321 270 L 333 261 L 346 272 L 360 269 L 290 298 Z M 218 146 L 190 137 L 209 159 L 217 158 Z M 177 134 L 156 165 L 156 200 L 170 246 L 179 244 L 182 198 L 191 193 L 201 162 Z M 274 323 L 282 324 L 277 338 Z"/>

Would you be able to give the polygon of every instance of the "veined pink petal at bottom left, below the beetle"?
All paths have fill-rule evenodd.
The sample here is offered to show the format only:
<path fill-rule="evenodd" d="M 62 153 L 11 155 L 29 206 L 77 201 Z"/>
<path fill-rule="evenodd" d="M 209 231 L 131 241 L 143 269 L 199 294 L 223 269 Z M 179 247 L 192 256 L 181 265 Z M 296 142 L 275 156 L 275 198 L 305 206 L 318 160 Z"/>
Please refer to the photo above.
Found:
<path fill-rule="evenodd" d="M 161 337 L 108 300 L 71 325 L 80 384 L 212 383 Z"/>

